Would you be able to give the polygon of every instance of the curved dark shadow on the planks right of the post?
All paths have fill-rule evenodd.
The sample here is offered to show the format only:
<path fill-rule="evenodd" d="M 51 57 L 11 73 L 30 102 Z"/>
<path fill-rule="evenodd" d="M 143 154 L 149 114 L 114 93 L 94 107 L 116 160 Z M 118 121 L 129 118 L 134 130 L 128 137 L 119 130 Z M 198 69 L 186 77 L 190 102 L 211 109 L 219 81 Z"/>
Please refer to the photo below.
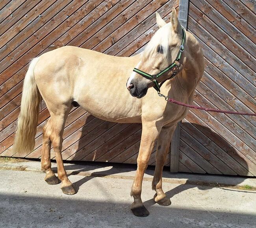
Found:
<path fill-rule="evenodd" d="M 192 173 L 202 173 L 197 172 L 201 169 L 209 174 L 253 176 L 248 166 L 252 163 L 242 153 L 209 127 L 183 121 L 180 130 L 180 162 Z M 182 155 L 187 157 L 183 158 Z M 254 166 L 252 164 L 252 168 Z"/>

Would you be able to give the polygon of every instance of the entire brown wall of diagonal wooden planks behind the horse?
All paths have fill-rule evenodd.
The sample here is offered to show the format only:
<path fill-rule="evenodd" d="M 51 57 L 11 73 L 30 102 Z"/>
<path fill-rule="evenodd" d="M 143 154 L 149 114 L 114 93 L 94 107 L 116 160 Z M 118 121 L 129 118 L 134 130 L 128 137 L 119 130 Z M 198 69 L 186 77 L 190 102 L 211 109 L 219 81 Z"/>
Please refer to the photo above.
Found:
<path fill-rule="evenodd" d="M 0 2 L 0 155 L 11 152 L 22 83 L 33 57 L 65 45 L 130 56 L 167 21 L 178 0 L 2 0 Z M 251 0 L 191 0 L 188 30 L 199 40 L 206 69 L 195 104 L 256 112 L 255 4 Z M 42 103 L 35 150 L 49 113 Z M 189 112 L 180 129 L 178 171 L 256 175 L 255 118 Z M 141 125 L 99 120 L 81 108 L 69 114 L 63 159 L 136 163 Z M 54 153 L 52 153 L 54 159 Z M 154 153 L 150 164 L 154 165 Z M 165 165 L 170 164 L 170 156 Z"/>

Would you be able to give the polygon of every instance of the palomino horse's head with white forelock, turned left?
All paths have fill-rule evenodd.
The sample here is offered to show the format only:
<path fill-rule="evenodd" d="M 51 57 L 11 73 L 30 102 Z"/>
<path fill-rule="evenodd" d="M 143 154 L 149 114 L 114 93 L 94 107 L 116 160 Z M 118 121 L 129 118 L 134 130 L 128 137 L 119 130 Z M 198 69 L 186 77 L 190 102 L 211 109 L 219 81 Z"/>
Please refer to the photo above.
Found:
<path fill-rule="evenodd" d="M 159 29 L 148 42 L 145 51 L 141 53 L 141 61 L 135 67 L 150 75 L 159 74 L 173 63 L 182 43 L 182 27 L 174 8 L 169 23 L 166 23 L 158 13 L 156 13 L 156 22 Z M 168 79 L 172 74 L 172 71 L 164 73 L 158 78 L 158 82 Z M 132 73 L 126 83 L 130 94 L 137 98 L 145 96 L 148 88 L 154 85 L 153 81 L 136 72 Z"/>

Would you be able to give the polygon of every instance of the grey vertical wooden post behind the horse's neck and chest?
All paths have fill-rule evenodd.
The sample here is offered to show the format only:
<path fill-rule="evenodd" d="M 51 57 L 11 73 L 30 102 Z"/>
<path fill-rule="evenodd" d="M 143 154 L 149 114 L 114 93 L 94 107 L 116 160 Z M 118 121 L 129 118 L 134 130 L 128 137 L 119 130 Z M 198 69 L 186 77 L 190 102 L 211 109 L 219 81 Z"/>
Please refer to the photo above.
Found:
<path fill-rule="evenodd" d="M 180 24 L 187 29 L 187 13 L 188 13 L 188 3 L 189 0 L 180 0 L 179 2 L 179 21 Z M 177 127 L 173 133 L 173 138 L 171 141 L 171 160 L 170 160 L 170 171 L 173 173 L 178 172 L 179 166 L 179 151 L 180 151 L 180 123 L 177 124 Z"/>

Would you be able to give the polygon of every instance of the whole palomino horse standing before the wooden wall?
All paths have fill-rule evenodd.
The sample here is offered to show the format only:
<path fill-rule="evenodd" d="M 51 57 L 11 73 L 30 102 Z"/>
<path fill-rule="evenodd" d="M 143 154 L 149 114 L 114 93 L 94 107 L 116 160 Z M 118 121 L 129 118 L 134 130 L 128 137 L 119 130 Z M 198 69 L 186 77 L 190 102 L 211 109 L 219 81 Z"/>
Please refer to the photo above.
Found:
<path fill-rule="evenodd" d="M 21 155 L 33 150 L 39 104 L 43 98 L 50 112 L 50 119 L 43 128 L 41 165 L 46 173 L 45 181 L 58 184 L 61 180 L 63 193 L 72 195 L 76 191 L 67 177 L 61 156 L 62 135 L 71 106 L 79 104 L 93 116 L 107 121 L 142 123 L 137 172 L 131 191 L 134 197 L 131 210 L 137 216 L 149 214 L 141 200 L 141 185 L 157 139 L 152 182 L 152 189 L 156 191 L 154 200 L 163 206 L 171 204 L 162 189 L 163 164 L 176 125 L 188 112 L 188 108 L 167 103 L 159 97 L 151 88 L 156 88 L 155 79 L 148 80 L 137 72 L 150 75 L 161 72 L 161 77 L 157 78 L 161 83 L 174 76 L 174 68 L 166 72 L 163 69 L 177 61 L 175 57 L 182 51 L 175 67 L 178 74 L 163 84 L 161 92 L 189 104 L 193 102 L 193 92 L 204 72 L 200 46 L 191 33 L 182 29 L 175 9 L 169 23 L 165 23 L 159 14 L 156 20 L 160 28 L 145 51 L 133 57 L 116 57 L 65 46 L 33 59 L 24 80 L 13 146 Z M 185 37 L 184 48 L 181 48 Z M 137 72 L 133 72 L 135 67 Z M 51 143 L 56 153 L 59 179 L 51 169 Z"/>

